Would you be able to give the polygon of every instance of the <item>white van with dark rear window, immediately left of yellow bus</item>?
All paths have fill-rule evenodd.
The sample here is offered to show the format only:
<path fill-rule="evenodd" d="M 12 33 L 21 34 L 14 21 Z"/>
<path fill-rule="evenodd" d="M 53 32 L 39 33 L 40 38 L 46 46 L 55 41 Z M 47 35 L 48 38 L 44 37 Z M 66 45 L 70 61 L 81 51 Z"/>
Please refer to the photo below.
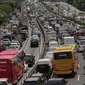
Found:
<path fill-rule="evenodd" d="M 52 74 L 52 62 L 50 59 L 39 59 L 37 62 L 36 67 L 37 72 L 43 73 L 43 75 L 47 78 L 47 80 L 50 78 Z"/>

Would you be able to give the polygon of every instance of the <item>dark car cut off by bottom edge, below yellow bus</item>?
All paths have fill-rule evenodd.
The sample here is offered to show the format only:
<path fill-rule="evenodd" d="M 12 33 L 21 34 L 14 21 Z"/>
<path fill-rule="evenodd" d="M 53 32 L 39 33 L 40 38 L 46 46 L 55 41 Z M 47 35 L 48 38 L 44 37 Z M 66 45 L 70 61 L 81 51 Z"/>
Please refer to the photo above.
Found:
<path fill-rule="evenodd" d="M 50 78 L 46 85 L 66 85 L 67 81 L 64 78 Z"/>

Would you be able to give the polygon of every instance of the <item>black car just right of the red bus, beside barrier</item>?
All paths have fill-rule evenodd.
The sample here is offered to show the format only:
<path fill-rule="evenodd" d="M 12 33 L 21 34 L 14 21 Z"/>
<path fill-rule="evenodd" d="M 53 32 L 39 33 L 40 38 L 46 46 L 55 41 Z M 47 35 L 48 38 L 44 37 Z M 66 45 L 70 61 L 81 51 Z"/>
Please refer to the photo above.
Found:
<path fill-rule="evenodd" d="M 32 67 L 35 64 L 35 56 L 32 54 L 27 54 L 24 57 L 25 63 L 28 64 L 28 67 Z"/>

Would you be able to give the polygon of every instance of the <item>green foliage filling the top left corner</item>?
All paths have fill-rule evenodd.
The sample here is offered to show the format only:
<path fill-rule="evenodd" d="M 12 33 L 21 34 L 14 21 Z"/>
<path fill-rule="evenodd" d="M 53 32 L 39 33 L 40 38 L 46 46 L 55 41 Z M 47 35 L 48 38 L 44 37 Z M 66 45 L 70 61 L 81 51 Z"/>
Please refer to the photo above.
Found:
<path fill-rule="evenodd" d="M 0 24 L 7 21 L 9 14 L 18 6 L 21 7 L 20 2 L 23 0 L 0 0 Z"/>

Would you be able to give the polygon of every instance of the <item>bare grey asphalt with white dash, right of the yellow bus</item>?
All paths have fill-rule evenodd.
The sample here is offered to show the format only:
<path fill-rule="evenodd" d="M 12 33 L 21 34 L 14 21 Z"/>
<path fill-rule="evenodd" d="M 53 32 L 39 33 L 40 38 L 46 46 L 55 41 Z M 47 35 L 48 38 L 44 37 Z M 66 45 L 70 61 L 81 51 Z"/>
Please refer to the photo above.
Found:
<path fill-rule="evenodd" d="M 78 71 L 77 75 L 74 78 L 67 78 L 67 85 L 84 85 L 85 84 L 85 71 L 84 71 L 84 66 L 85 66 L 85 60 L 83 59 L 82 53 L 78 54 L 79 56 L 79 64 L 78 64 Z"/>

